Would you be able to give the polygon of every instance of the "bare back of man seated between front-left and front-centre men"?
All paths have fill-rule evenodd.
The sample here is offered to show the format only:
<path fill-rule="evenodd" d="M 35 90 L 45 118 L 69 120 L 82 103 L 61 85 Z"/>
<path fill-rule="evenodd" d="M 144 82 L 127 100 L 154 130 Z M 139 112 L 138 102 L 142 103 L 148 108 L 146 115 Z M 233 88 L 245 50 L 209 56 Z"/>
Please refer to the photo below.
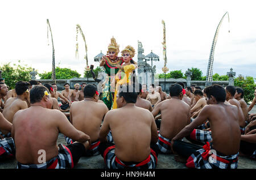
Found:
<path fill-rule="evenodd" d="M 93 112 L 93 113 L 92 113 Z M 95 101 L 74 102 L 70 108 L 72 125 L 95 142 L 99 138 L 100 126 L 108 108 L 105 104 Z"/>

